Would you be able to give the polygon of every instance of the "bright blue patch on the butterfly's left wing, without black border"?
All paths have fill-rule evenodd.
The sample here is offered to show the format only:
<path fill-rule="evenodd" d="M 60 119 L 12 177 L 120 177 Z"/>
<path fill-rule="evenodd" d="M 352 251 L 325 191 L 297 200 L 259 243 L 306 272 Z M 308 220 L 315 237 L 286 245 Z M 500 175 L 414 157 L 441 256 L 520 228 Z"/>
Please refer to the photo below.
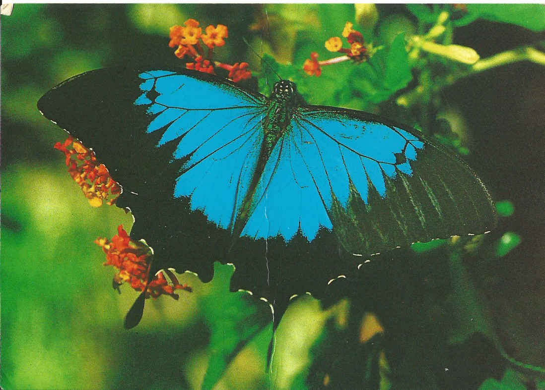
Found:
<path fill-rule="evenodd" d="M 147 131 L 162 132 L 158 146 L 178 143 L 173 157 L 183 165 L 174 197 L 188 197 L 192 211 L 232 229 L 263 143 L 263 99 L 174 72 L 139 77 L 142 95 L 135 104 L 154 116 Z"/>

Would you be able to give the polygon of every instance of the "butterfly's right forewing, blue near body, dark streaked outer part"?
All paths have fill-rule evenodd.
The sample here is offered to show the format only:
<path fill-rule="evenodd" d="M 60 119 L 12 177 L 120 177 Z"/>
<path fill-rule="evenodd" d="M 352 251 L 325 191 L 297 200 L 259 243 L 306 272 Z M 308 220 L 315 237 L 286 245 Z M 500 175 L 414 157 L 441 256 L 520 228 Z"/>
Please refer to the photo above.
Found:
<path fill-rule="evenodd" d="M 481 179 L 416 131 L 334 107 L 309 107 L 294 120 L 319 151 L 306 158 L 328 177 L 316 191 L 347 250 L 367 254 L 495 226 Z"/>

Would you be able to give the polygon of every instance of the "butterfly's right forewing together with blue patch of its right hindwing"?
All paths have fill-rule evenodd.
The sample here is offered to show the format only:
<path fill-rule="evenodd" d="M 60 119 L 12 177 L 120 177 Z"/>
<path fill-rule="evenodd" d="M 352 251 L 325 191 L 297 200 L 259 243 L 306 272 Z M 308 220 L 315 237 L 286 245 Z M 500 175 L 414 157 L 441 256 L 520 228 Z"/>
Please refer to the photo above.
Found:
<path fill-rule="evenodd" d="M 443 147 L 369 114 L 301 107 L 278 141 L 243 234 L 312 241 L 333 230 L 352 253 L 482 233 L 495 225 L 480 179 Z"/>

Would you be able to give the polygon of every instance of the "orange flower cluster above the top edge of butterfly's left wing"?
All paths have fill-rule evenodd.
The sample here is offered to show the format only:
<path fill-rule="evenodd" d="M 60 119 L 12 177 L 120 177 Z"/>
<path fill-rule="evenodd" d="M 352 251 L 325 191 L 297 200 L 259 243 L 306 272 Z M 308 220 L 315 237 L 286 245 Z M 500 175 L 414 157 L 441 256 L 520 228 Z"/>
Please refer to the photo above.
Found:
<path fill-rule="evenodd" d="M 215 74 L 216 67 L 221 67 L 229 71 L 229 78 L 235 83 L 252 77 L 252 73 L 247 69 L 248 63 L 236 63 L 234 65 L 222 64 L 213 61 L 214 47 L 225 45 L 225 38 L 228 36 L 227 26 L 218 24 L 216 27 L 210 25 L 204 29 L 199 27 L 199 22 L 195 19 L 188 19 L 184 26 L 172 26 L 170 28 L 170 42 L 168 46 L 176 47 L 174 54 L 178 58 L 191 57 L 192 62 L 186 63 L 187 69 L 195 69 L 199 72 Z M 201 42 L 208 47 L 205 53 Z"/>

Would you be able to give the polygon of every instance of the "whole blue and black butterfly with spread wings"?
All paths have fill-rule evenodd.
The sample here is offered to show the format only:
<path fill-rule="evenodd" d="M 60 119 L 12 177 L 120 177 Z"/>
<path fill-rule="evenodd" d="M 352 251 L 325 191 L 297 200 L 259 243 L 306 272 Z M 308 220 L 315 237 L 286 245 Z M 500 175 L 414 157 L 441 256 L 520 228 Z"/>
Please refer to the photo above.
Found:
<path fill-rule="evenodd" d="M 151 274 L 207 282 L 214 261 L 233 263 L 231 289 L 271 302 L 275 323 L 291 296 L 320 298 L 365 256 L 496 224 L 463 160 L 398 123 L 308 105 L 287 80 L 265 97 L 186 69 L 101 69 L 38 108 L 122 185 Z"/>

